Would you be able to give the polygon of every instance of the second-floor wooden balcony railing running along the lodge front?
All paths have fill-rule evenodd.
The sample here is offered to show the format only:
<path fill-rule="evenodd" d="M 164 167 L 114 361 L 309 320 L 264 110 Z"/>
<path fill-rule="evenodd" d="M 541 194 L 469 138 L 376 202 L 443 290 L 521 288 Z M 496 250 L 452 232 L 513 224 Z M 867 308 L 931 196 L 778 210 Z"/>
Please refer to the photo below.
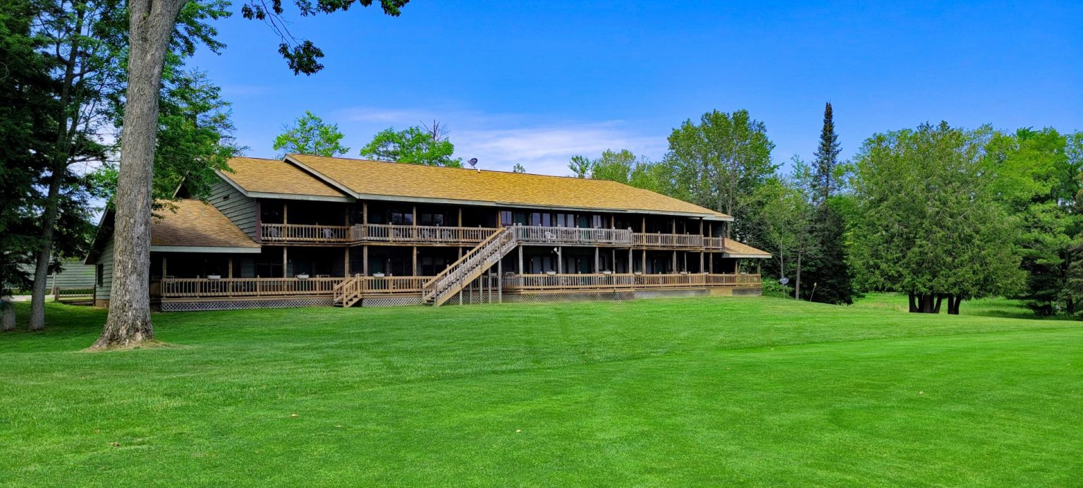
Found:
<path fill-rule="evenodd" d="M 263 242 L 284 243 L 402 243 L 477 245 L 497 229 L 432 225 L 262 224 Z M 621 246 L 639 249 L 722 250 L 725 239 L 694 234 L 636 233 L 621 228 L 514 226 L 520 242 L 554 246 Z"/>

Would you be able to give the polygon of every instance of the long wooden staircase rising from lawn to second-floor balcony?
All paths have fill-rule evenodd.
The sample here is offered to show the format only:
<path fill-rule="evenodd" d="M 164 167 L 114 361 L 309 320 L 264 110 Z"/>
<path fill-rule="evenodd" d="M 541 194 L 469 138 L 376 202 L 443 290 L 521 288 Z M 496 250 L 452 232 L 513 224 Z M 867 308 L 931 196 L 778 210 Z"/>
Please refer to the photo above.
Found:
<path fill-rule="evenodd" d="M 516 249 L 512 227 L 504 227 L 421 287 L 421 302 L 440 306 Z"/>

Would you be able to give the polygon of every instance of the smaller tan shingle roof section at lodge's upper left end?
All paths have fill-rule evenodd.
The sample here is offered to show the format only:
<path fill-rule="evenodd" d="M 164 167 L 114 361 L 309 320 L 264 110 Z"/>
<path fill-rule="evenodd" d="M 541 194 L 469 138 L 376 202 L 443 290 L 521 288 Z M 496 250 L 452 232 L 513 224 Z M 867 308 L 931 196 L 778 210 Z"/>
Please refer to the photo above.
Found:
<path fill-rule="evenodd" d="M 318 197 L 343 196 L 341 192 L 328 186 L 319 179 L 283 160 L 232 158 L 229 163 L 233 172 L 223 172 L 222 174 L 233 180 L 245 192 Z"/>

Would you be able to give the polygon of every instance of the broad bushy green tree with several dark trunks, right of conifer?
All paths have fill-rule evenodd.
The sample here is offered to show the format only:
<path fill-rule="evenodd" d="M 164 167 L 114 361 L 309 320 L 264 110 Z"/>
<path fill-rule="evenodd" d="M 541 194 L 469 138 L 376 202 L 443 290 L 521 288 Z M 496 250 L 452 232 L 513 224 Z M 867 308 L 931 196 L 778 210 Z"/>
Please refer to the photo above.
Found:
<path fill-rule="evenodd" d="M 982 171 L 989 132 L 926 123 L 864 142 L 852 260 L 867 288 L 908 293 L 911 312 L 938 312 L 948 299 L 950 314 L 1019 289 L 1018 225 Z"/>

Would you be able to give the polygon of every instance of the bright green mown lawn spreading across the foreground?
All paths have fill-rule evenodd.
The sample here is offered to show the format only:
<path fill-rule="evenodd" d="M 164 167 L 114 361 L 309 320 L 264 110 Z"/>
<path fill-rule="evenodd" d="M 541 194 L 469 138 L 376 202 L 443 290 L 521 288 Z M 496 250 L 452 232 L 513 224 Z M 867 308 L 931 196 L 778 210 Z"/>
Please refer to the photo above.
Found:
<path fill-rule="evenodd" d="M 161 314 L 97 354 L 50 304 L 0 334 L 0 484 L 1081 483 L 1083 325 L 869 300 Z"/>

